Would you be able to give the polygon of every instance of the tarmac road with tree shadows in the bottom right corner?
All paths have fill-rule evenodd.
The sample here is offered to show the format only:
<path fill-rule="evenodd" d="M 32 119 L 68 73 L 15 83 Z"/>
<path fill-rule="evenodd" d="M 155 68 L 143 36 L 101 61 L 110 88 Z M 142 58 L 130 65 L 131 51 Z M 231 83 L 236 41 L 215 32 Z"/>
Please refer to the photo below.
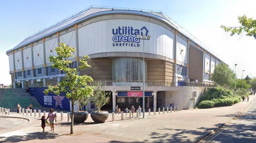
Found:
<path fill-rule="evenodd" d="M 256 101 L 228 127 L 209 138 L 207 143 L 256 143 Z"/>

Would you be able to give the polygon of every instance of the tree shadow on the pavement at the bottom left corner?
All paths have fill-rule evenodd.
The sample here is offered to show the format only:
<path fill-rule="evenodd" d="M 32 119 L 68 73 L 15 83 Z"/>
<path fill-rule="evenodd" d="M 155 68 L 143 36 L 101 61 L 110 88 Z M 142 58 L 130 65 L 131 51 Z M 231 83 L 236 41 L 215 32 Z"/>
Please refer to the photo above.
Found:
<path fill-rule="evenodd" d="M 21 136 L 10 136 L 10 137 L 0 137 L 0 143 L 17 143 L 17 142 L 26 142 L 33 139 L 55 139 L 58 136 L 56 133 L 52 132 L 35 132 L 35 133 L 26 133 Z"/>

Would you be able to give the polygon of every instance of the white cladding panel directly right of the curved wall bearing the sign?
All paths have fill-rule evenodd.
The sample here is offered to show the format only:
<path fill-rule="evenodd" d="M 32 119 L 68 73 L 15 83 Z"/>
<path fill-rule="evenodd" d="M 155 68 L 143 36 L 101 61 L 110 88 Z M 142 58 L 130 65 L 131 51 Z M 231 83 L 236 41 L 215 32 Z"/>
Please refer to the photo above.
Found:
<path fill-rule="evenodd" d="M 177 36 L 177 61 L 187 63 L 187 41 Z"/>

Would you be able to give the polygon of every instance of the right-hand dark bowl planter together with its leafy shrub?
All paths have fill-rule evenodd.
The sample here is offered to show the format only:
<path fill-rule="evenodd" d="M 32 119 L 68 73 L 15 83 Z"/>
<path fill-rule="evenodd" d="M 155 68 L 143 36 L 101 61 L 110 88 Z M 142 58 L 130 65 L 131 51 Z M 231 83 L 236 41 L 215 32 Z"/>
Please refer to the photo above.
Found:
<path fill-rule="evenodd" d="M 106 91 L 106 87 L 101 82 L 96 82 L 94 87 L 92 102 L 98 110 L 91 112 L 90 116 L 94 122 L 104 123 L 108 119 L 109 113 L 108 111 L 101 111 L 101 108 L 108 103 L 111 92 Z"/>

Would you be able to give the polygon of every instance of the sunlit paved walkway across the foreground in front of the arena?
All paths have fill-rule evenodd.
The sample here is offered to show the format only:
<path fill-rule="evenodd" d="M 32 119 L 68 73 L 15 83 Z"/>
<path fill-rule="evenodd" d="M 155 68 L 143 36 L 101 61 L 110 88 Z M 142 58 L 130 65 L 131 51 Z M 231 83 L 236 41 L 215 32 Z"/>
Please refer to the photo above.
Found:
<path fill-rule="evenodd" d="M 252 101 L 254 97 L 250 98 Z M 178 112 L 165 113 L 145 119 L 129 119 L 129 114 L 124 121 L 97 124 L 91 122 L 90 117 L 83 124 L 75 123 L 75 133 L 70 135 L 70 123 L 59 121 L 58 117 L 55 133 L 51 133 L 50 127 L 46 127 L 46 133 L 41 133 L 40 122 L 34 117 L 31 122 L 18 127 L 15 131 L 2 131 L 0 129 L 1 142 L 26 142 L 41 143 L 45 141 L 70 143 L 122 143 L 122 142 L 187 142 L 193 143 L 203 137 L 209 131 L 219 127 L 240 112 L 250 103 L 240 102 L 228 107 L 211 109 L 190 109 Z M 153 112 L 152 112 L 153 113 Z M 157 112 L 158 113 L 158 112 Z M 17 113 L 11 116 L 17 117 Z M 58 113 L 59 116 L 59 113 Z M 115 119 L 121 119 L 120 114 Z M 43 141 L 42 141 L 43 140 Z"/>

